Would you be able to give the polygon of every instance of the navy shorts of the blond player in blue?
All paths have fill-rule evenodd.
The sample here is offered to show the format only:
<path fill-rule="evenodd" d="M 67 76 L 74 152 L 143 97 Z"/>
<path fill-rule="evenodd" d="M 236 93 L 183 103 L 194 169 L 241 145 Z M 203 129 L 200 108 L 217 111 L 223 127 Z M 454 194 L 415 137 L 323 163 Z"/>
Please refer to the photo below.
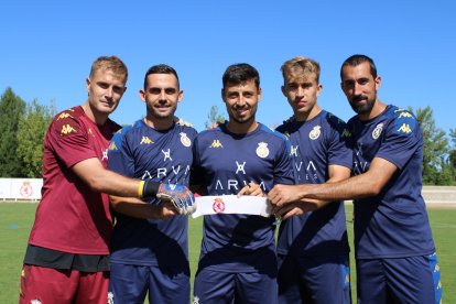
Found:
<path fill-rule="evenodd" d="M 345 257 L 279 254 L 279 303 L 351 303 L 350 268 Z"/>

